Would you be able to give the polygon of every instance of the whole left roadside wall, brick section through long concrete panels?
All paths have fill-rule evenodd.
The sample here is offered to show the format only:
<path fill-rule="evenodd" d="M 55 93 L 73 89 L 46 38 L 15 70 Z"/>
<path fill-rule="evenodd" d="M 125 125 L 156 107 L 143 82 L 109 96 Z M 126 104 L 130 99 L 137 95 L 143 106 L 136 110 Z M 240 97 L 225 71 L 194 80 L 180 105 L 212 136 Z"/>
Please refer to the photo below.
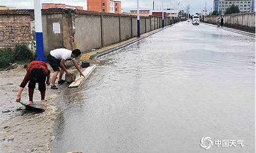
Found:
<path fill-rule="evenodd" d="M 8 14 L 8 12 L 11 13 Z M 4 25 L 7 24 L 7 19 L 22 19 L 17 20 L 17 24 L 19 25 L 16 25 L 15 22 L 15 26 L 19 26 L 18 28 L 20 30 L 25 26 L 28 27 L 26 29 L 26 32 L 28 32 L 26 38 L 28 39 L 23 39 L 25 41 L 22 41 L 22 39 L 17 37 L 18 42 L 26 44 L 29 41 L 34 41 L 33 14 L 33 10 L 0 11 L 0 21 L 2 21 L 0 22 L 0 31 L 2 31 L 0 35 L 3 36 L 0 38 L 0 48 L 14 47 L 15 44 L 17 44 L 9 42 L 12 40 L 9 38 L 9 35 L 8 37 L 4 37 L 7 35 L 6 32 L 8 32 Z M 9 16 L 12 16 L 12 18 Z M 25 24 L 25 20 L 26 25 L 23 25 L 23 23 Z M 59 23 L 60 33 L 54 33 L 53 23 Z M 170 18 L 165 18 L 164 25 L 166 26 L 170 23 Z M 172 23 L 175 22 L 172 21 Z M 159 28 L 162 28 L 161 17 L 141 17 L 141 34 Z M 14 33 L 14 37 L 20 32 L 18 29 L 17 31 L 11 30 L 12 29 L 10 29 L 10 34 Z M 86 51 L 136 37 L 137 17 L 133 15 L 96 13 L 81 10 L 47 9 L 42 10 L 42 31 L 45 55 L 47 55 L 50 50 L 60 47 L 66 47 L 67 49 L 79 48 L 82 51 Z"/>

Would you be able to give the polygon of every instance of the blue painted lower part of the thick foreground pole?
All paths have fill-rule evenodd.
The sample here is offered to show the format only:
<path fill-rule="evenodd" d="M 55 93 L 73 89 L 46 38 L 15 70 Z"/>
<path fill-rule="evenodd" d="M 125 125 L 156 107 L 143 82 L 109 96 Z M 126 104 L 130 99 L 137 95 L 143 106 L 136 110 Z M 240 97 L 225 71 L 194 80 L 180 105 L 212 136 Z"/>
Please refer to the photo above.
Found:
<path fill-rule="evenodd" d="M 47 62 L 44 55 L 44 43 L 42 40 L 42 33 L 35 33 L 36 37 L 36 61 L 44 61 Z"/>

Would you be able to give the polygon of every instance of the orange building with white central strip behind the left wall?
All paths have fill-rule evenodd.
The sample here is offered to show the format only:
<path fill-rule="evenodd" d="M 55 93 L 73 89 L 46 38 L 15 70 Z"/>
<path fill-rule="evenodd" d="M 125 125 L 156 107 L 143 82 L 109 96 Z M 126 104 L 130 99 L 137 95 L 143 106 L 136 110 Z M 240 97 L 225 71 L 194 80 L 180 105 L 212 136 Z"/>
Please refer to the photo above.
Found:
<path fill-rule="evenodd" d="M 114 0 L 87 0 L 87 10 L 93 12 L 122 13 L 121 2 Z"/>

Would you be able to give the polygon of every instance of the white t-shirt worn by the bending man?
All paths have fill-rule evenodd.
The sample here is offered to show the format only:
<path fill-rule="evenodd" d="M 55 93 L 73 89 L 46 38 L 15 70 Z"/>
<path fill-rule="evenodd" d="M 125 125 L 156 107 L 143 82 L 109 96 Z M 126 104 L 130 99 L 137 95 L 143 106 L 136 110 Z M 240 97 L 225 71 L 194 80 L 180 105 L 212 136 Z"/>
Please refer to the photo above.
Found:
<path fill-rule="evenodd" d="M 59 48 L 54 49 L 50 52 L 51 56 L 53 56 L 55 59 L 61 60 L 74 60 L 74 58 L 71 57 L 72 50 L 65 49 L 65 48 Z"/>

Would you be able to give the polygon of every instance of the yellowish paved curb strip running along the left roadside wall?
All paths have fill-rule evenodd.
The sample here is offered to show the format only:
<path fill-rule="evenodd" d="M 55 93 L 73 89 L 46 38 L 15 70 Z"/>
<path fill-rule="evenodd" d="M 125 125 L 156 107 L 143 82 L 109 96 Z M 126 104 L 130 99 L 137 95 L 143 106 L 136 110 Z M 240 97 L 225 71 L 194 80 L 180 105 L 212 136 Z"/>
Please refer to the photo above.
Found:
<path fill-rule="evenodd" d="M 111 47 L 111 48 L 108 48 L 108 46 L 106 46 L 106 47 L 97 49 L 97 50 L 101 50 L 100 52 L 97 52 L 97 50 L 94 50 L 94 51 L 92 51 L 92 52 L 83 54 L 83 55 L 81 55 L 80 60 L 81 60 L 81 61 L 85 61 L 85 60 L 95 60 L 95 59 L 97 59 L 97 58 L 99 58 L 99 57 L 101 57 L 101 56 L 110 54 L 110 53 L 114 52 L 115 50 L 118 50 L 118 49 L 121 49 L 121 48 L 123 48 L 123 47 L 129 46 L 129 45 L 131 45 L 131 44 L 133 44 L 133 43 L 135 43 L 135 42 L 138 42 L 138 41 L 140 41 L 140 40 L 142 40 L 142 39 L 144 39 L 144 38 L 147 38 L 147 37 L 149 37 L 149 36 L 151 36 L 151 35 L 153 35 L 153 34 L 155 34 L 155 33 L 160 32 L 160 31 L 162 31 L 162 30 L 165 30 L 165 29 L 167 29 L 167 28 L 173 27 L 174 25 L 176 25 L 176 24 L 178 24 L 178 23 L 179 23 L 179 22 L 174 23 L 174 24 L 172 24 L 172 25 L 167 25 L 167 26 L 164 27 L 164 28 L 160 28 L 160 29 L 157 29 L 157 30 L 154 30 L 154 31 L 151 31 L 151 32 L 144 33 L 144 34 L 142 34 L 141 37 L 139 37 L 139 38 L 134 37 L 134 38 L 128 39 L 128 40 L 126 40 L 127 43 L 125 43 L 125 41 L 124 41 L 123 44 L 122 44 L 122 42 L 119 42 L 119 43 L 121 43 L 120 45 L 118 45 L 118 43 L 116 43 L 117 46 L 114 46 L 114 47 Z M 133 40 L 133 39 L 134 39 L 134 40 Z M 129 41 L 129 40 L 130 40 L 130 41 Z M 104 48 L 106 48 L 106 49 L 104 49 Z"/>

